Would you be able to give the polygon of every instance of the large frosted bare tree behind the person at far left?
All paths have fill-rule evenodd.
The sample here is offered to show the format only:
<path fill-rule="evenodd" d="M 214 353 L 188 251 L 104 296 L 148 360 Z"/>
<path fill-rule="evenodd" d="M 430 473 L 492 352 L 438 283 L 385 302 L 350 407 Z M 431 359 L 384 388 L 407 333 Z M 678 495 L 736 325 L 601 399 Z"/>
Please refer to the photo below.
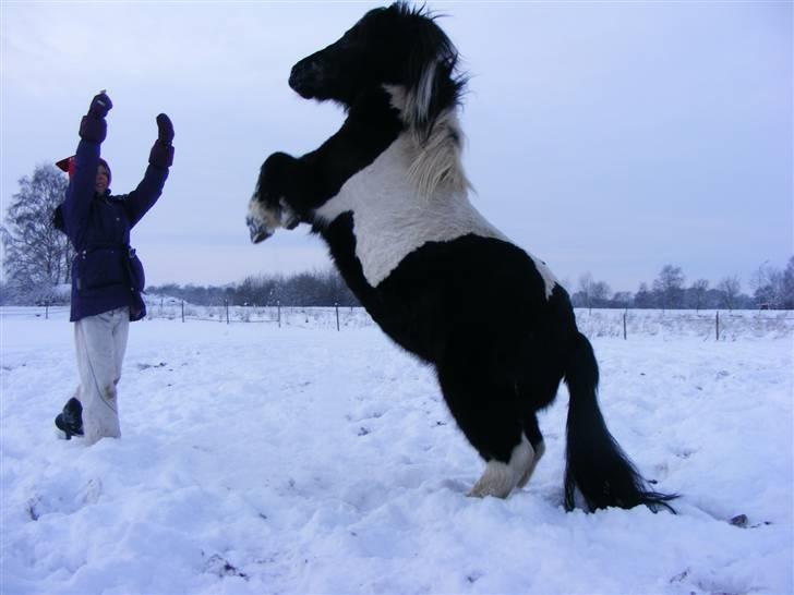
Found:
<path fill-rule="evenodd" d="M 55 228 L 52 212 L 63 201 L 67 179 L 55 166 L 38 166 L 32 177 L 19 181 L 0 227 L 5 251 L 7 279 L 28 296 L 51 291 L 71 280 L 73 248 L 64 233 Z"/>

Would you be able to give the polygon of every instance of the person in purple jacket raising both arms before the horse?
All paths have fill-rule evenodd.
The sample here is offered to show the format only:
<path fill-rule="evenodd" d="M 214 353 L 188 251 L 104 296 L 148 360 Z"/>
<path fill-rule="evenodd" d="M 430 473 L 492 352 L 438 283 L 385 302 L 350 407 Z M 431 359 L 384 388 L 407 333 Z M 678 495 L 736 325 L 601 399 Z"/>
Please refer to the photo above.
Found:
<path fill-rule="evenodd" d="M 130 245 L 130 230 L 163 194 L 173 162 L 173 125 L 160 113 L 143 180 L 129 194 L 111 194 L 110 167 L 100 157 L 100 146 L 112 107 L 104 90 L 92 99 L 80 123 L 77 151 L 57 163 L 69 173 L 67 196 L 55 219 L 75 251 L 70 321 L 80 386 L 56 426 L 67 439 L 84 436 L 87 445 L 121 437 L 117 385 L 130 321 L 146 314 L 143 265 Z"/>

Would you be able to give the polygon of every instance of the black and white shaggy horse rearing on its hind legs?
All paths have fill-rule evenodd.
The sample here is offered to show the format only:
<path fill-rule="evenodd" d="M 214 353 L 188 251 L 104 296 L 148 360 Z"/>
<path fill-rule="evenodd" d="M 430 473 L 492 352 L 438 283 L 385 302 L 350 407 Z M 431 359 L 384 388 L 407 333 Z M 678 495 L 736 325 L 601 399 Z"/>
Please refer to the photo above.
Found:
<path fill-rule="evenodd" d="M 567 293 L 469 202 L 457 58 L 432 16 L 396 3 L 298 62 L 290 87 L 340 104 L 347 119 L 312 153 L 267 158 L 249 204 L 251 239 L 311 224 L 372 318 L 435 366 L 488 462 L 470 495 L 505 498 L 527 484 L 544 451 L 536 413 L 565 379 L 566 508 L 575 488 L 590 509 L 669 507 L 606 429 L 596 357 Z"/>

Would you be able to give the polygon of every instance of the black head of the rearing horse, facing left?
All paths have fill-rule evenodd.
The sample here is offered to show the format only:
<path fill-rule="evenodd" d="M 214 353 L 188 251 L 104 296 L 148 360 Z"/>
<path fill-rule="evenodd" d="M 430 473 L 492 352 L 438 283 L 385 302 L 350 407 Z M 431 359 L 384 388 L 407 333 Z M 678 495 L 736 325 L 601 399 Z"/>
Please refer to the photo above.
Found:
<path fill-rule="evenodd" d="M 368 12 L 340 39 L 292 66 L 289 86 L 305 99 L 346 108 L 362 93 L 400 87 L 404 119 L 429 130 L 464 86 L 458 52 L 432 16 L 402 2 Z"/>

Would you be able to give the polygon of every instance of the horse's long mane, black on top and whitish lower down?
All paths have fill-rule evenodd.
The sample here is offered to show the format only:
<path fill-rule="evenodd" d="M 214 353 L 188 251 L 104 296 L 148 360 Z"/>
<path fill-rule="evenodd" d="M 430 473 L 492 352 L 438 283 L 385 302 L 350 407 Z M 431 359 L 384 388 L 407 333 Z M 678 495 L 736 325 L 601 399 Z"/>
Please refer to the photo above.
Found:
<path fill-rule="evenodd" d="M 438 186 L 454 192 L 471 189 L 460 160 L 464 133 L 457 108 L 467 77 L 458 72 L 458 50 L 424 7 L 397 2 L 388 10 L 412 21 L 413 44 L 406 63 L 407 85 L 389 86 L 417 156 L 408 171 L 419 194 L 430 197 Z"/>

